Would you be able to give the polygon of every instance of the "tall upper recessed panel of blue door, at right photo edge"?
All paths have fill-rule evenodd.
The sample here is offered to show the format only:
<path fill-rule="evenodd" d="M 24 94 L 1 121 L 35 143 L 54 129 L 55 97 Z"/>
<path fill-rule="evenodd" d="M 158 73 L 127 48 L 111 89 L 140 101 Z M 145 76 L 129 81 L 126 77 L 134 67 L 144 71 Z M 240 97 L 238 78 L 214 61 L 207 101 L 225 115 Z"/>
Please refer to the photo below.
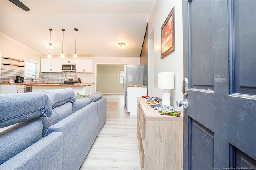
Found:
<path fill-rule="evenodd" d="M 256 2 L 234 1 L 235 93 L 256 95 Z"/>

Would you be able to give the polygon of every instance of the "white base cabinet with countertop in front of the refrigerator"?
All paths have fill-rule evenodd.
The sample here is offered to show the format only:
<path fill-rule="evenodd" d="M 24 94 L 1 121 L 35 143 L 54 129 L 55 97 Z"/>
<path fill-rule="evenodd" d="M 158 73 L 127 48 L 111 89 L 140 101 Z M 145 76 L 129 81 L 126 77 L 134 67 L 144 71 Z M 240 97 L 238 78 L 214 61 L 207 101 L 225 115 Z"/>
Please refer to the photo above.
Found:
<path fill-rule="evenodd" d="M 127 112 L 130 116 L 137 115 L 138 97 L 146 96 L 148 88 L 146 86 L 128 86 L 127 88 Z"/>

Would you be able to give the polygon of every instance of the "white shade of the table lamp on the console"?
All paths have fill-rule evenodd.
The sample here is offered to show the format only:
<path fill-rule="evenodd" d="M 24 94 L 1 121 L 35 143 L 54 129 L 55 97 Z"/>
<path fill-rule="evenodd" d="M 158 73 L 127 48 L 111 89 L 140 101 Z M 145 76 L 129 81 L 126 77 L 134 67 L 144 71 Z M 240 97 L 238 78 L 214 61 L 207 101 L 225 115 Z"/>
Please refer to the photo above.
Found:
<path fill-rule="evenodd" d="M 158 89 L 174 89 L 174 72 L 158 73 Z"/>

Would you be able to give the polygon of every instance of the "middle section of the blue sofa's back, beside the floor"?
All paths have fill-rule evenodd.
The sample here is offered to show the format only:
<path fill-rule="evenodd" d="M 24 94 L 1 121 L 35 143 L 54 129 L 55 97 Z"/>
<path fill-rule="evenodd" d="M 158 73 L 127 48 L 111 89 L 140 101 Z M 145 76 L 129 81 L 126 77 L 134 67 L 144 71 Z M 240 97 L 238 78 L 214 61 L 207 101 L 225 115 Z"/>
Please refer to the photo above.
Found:
<path fill-rule="evenodd" d="M 97 104 L 90 103 L 52 125 L 47 134 L 63 133 L 63 170 L 78 170 L 98 135 Z"/>

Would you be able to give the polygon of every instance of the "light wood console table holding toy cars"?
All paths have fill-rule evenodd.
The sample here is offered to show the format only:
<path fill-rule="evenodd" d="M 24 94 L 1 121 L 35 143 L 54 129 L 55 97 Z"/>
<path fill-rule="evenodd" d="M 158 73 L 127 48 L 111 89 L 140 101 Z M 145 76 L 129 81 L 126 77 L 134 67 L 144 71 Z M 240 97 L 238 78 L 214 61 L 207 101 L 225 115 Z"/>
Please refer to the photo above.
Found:
<path fill-rule="evenodd" d="M 183 114 L 161 115 L 138 97 L 137 137 L 142 170 L 182 170 Z"/>

